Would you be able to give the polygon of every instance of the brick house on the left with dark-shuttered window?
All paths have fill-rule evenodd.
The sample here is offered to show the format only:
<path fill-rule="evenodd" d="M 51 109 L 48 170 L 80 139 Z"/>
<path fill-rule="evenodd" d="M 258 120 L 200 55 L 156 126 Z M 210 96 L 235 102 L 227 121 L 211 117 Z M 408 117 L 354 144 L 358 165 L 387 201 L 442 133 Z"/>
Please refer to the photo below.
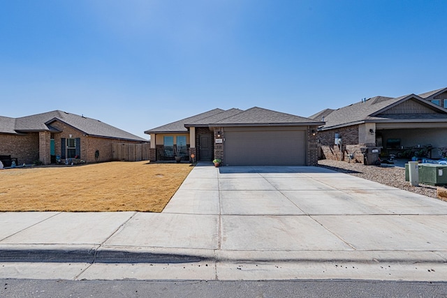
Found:
<path fill-rule="evenodd" d="M 111 161 L 115 142 L 149 141 L 99 120 L 60 110 L 20 118 L 0 117 L 0 156 L 17 158 L 19 165 L 73 159 L 86 163 Z"/>

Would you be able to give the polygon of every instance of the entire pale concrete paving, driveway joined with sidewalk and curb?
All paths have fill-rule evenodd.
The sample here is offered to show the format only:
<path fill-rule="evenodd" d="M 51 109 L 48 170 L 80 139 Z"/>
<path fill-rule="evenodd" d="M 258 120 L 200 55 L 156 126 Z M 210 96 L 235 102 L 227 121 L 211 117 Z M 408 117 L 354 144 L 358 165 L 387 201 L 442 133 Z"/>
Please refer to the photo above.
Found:
<path fill-rule="evenodd" d="M 8 212 L 0 226 L 3 278 L 31 263 L 69 279 L 128 266 L 147 279 L 147 266 L 179 279 L 386 279 L 391 264 L 393 278 L 447 279 L 446 202 L 321 167 L 199 163 L 161 214 Z M 340 274 L 346 264 L 357 269 Z"/>

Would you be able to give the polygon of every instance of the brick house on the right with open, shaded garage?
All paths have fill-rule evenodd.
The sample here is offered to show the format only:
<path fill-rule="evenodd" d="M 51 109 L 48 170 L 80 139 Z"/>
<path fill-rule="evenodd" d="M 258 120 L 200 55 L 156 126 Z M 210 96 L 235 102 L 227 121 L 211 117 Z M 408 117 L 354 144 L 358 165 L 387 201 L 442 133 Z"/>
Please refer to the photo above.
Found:
<path fill-rule="evenodd" d="M 337 110 L 325 109 L 311 119 L 318 128 L 320 157 L 363 163 L 374 149 L 381 156 L 440 158 L 447 147 L 447 88 L 398 98 L 375 96 Z"/>

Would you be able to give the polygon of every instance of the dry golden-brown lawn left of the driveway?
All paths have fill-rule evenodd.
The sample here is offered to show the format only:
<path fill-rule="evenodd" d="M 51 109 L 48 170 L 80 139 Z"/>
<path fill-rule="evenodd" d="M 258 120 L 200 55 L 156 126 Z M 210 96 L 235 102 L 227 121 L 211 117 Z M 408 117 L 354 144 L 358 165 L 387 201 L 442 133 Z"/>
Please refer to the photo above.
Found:
<path fill-rule="evenodd" d="M 0 211 L 161 212 L 192 168 L 117 161 L 0 170 Z"/>

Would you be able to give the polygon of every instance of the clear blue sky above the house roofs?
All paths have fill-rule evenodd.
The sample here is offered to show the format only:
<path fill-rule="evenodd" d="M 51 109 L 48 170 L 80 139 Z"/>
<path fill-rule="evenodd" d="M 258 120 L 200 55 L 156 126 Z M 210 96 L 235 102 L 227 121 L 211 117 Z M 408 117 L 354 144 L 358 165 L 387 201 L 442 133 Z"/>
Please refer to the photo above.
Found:
<path fill-rule="evenodd" d="M 447 1 L 0 0 L 0 115 L 140 137 L 216 107 L 302 117 L 447 87 Z"/>

